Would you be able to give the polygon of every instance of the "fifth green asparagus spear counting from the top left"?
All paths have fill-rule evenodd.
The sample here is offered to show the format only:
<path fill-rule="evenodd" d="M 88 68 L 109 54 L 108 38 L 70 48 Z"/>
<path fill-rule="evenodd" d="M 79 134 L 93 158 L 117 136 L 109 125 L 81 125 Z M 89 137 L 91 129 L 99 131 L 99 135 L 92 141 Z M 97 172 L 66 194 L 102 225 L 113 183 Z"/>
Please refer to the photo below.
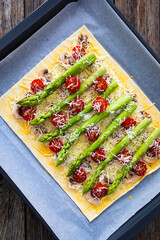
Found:
<path fill-rule="evenodd" d="M 123 122 L 124 120 L 136 109 L 136 105 L 127 106 L 106 128 L 106 130 L 100 135 L 100 137 L 87 148 L 70 166 L 67 177 L 71 176 L 95 149 L 97 149 Z"/>

